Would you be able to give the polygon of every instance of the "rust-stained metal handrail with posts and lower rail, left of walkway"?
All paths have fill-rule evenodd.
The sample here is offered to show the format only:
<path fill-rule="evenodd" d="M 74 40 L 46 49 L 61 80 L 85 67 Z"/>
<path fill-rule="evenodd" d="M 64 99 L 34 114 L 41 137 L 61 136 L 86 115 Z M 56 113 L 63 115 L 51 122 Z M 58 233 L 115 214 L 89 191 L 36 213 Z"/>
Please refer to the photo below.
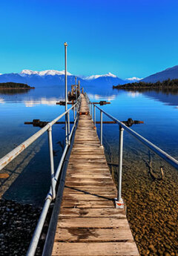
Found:
<path fill-rule="evenodd" d="M 39 243 L 39 238 L 42 233 L 42 228 L 44 226 L 44 221 L 47 216 L 48 209 L 50 207 L 50 203 L 52 200 L 56 197 L 56 183 L 59 178 L 60 171 L 62 169 L 62 164 L 65 160 L 65 155 L 67 153 L 67 149 L 70 146 L 70 140 L 73 135 L 74 128 L 76 127 L 76 122 L 79 119 L 79 112 L 78 108 L 81 102 L 81 96 L 79 96 L 78 101 L 67 111 L 65 111 L 60 116 L 57 116 L 56 119 L 53 119 L 51 122 L 47 123 L 47 125 L 44 126 L 40 131 L 37 131 L 36 134 L 33 134 L 30 138 L 22 142 L 18 147 L 14 148 L 12 151 L 10 151 L 8 154 L 6 154 L 4 157 L 0 159 L 0 171 L 2 168 L 4 168 L 7 164 L 9 164 L 12 160 L 14 160 L 19 154 L 21 154 L 24 149 L 26 149 L 29 145 L 31 145 L 33 142 L 35 142 L 39 137 L 44 134 L 45 131 L 48 131 L 48 142 L 49 142 L 49 151 L 50 151 L 50 174 L 51 174 L 51 186 L 50 190 L 47 193 L 47 197 L 45 199 L 45 203 L 42 209 L 42 212 L 39 217 L 39 221 L 36 226 L 36 230 L 33 233 L 32 240 L 30 242 L 29 249 L 27 251 L 27 256 L 33 256 L 35 255 L 37 245 Z M 70 131 L 70 119 L 69 119 L 69 113 L 73 110 L 73 128 Z M 75 114 L 76 111 L 76 114 Z M 54 165 L 53 165 L 53 143 L 52 143 L 52 126 L 62 118 L 62 116 L 66 116 L 66 122 L 67 122 L 67 140 L 65 149 L 63 151 L 61 160 L 59 162 L 58 168 L 56 170 L 56 173 L 54 174 Z"/>

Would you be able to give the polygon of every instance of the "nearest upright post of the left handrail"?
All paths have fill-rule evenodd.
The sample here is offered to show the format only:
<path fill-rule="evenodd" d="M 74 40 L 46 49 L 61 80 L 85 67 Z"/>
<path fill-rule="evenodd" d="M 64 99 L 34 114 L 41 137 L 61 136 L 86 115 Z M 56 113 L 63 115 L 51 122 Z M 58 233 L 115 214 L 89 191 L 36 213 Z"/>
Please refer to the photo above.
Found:
<path fill-rule="evenodd" d="M 48 130 L 48 142 L 49 142 L 49 151 L 50 151 L 50 178 L 51 178 L 51 187 L 52 187 L 52 197 L 56 197 L 55 191 L 55 180 L 54 180 L 54 165 L 53 165 L 53 141 L 52 141 L 52 127 Z"/>

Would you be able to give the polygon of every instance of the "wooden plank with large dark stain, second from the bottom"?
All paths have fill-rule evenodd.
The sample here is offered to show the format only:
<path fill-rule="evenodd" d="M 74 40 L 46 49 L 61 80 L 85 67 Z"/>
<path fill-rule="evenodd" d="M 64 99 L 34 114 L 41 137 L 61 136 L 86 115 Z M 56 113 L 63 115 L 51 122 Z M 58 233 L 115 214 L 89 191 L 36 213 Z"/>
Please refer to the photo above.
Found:
<path fill-rule="evenodd" d="M 133 239 L 130 229 L 58 229 L 55 241 L 65 242 L 128 242 Z"/>

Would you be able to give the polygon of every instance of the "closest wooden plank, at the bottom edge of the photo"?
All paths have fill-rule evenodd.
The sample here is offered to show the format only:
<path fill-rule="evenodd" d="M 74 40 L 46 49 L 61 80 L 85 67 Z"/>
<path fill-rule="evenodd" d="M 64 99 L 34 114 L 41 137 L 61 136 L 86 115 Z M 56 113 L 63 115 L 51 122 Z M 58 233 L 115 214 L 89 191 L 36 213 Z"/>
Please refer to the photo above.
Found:
<path fill-rule="evenodd" d="M 135 243 L 54 243 L 53 256 L 139 256 Z"/>

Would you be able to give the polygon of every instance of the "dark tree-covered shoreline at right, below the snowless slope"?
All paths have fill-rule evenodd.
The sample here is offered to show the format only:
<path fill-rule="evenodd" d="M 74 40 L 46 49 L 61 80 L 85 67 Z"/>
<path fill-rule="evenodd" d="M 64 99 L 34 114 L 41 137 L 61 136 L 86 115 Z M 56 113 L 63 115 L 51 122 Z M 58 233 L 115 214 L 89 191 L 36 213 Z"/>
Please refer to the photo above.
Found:
<path fill-rule="evenodd" d="M 113 88 L 117 89 L 151 89 L 151 88 L 177 88 L 178 89 L 178 79 L 167 79 L 165 81 L 158 82 L 132 82 L 125 85 L 113 85 Z"/>

